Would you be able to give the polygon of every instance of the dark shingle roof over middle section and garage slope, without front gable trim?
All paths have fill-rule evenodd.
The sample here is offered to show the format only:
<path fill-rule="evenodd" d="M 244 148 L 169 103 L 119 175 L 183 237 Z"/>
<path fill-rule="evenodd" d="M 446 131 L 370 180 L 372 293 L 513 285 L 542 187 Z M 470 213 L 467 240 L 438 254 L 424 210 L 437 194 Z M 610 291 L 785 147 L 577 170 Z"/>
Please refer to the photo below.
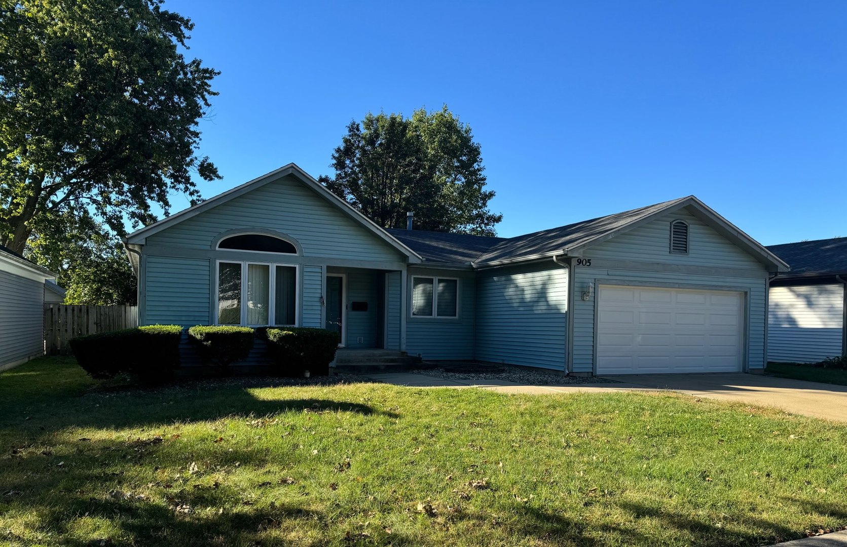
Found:
<path fill-rule="evenodd" d="M 450 234 L 417 229 L 388 229 L 387 231 L 412 251 L 424 257 L 425 262 L 456 265 L 468 265 L 470 262 L 483 264 L 545 255 L 580 246 L 685 199 L 688 198 L 680 197 L 669 202 L 656 203 L 623 213 L 591 218 L 512 238 Z"/>

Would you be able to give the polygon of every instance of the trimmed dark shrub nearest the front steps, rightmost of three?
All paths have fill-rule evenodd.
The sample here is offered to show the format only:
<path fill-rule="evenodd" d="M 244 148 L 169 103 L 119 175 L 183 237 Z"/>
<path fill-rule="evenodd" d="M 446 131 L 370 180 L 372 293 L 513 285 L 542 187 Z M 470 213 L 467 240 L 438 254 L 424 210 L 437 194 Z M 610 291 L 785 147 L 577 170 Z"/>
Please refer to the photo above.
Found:
<path fill-rule="evenodd" d="M 333 330 L 284 328 L 266 329 L 268 356 L 282 376 L 302 376 L 305 371 L 315 376 L 329 374 L 329 363 L 341 341 Z"/>

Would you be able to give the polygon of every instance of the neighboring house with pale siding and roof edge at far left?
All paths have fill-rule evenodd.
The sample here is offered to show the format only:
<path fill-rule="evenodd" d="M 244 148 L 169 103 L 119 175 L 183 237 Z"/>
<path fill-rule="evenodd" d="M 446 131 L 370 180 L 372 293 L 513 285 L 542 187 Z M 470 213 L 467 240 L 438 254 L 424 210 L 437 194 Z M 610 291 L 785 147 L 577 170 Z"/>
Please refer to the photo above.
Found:
<path fill-rule="evenodd" d="M 56 274 L 0 246 L 0 370 L 44 353 L 44 294 Z"/>

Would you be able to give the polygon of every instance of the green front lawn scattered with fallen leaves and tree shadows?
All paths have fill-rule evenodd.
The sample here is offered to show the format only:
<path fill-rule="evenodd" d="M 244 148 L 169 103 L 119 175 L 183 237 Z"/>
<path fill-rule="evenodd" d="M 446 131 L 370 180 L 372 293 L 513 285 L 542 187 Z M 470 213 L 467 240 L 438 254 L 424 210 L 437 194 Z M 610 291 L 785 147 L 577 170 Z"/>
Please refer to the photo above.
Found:
<path fill-rule="evenodd" d="M 92 385 L 69 359 L 0 375 L 0 544 L 763 545 L 847 526 L 847 426 L 775 411 Z"/>

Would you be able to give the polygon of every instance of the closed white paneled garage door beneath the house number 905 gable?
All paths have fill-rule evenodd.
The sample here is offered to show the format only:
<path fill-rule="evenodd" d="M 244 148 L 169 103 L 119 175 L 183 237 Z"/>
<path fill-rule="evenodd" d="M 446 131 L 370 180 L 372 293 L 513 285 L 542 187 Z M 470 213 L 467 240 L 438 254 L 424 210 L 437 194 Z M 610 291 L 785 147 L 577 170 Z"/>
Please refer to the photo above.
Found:
<path fill-rule="evenodd" d="M 742 293 L 600 285 L 597 373 L 729 373 L 742 362 Z"/>

